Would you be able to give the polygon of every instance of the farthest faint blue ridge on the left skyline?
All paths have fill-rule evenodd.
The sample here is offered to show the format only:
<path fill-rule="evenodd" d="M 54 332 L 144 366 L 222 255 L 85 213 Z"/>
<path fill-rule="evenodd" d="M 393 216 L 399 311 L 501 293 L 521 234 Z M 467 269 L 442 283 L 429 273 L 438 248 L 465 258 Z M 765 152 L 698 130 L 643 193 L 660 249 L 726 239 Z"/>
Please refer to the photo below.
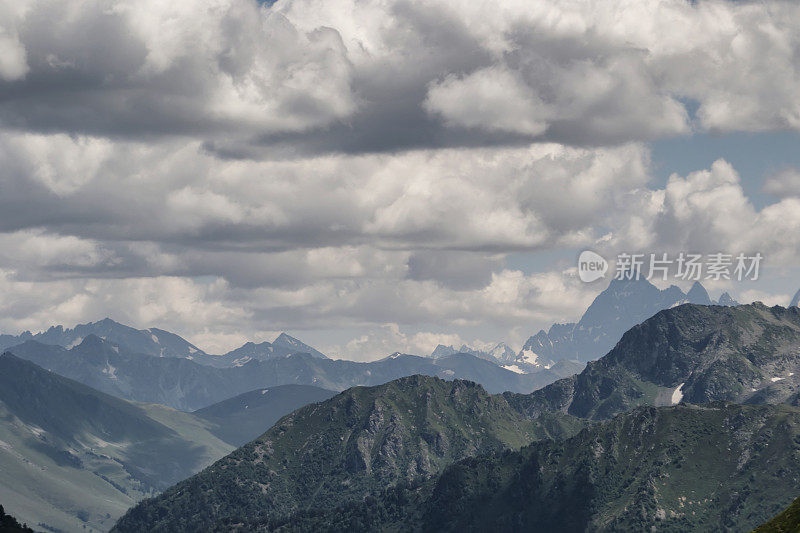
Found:
<path fill-rule="evenodd" d="M 194 344 L 169 331 L 157 328 L 134 329 L 119 322 L 114 322 L 110 318 L 99 322 L 79 324 L 73 329 L 53 326 L 47 331 L 35 335 L 29 331 L 16 336 L 0 335 L 0 349 L 10 348 L 29 340 L 72 348 L 83 342 L 89 335 L 96 335 L 114 344 L 126 346 L 136 353 L 146 353 L 159 357 L 193 359 L 206 355 L 203 350 Z"/>

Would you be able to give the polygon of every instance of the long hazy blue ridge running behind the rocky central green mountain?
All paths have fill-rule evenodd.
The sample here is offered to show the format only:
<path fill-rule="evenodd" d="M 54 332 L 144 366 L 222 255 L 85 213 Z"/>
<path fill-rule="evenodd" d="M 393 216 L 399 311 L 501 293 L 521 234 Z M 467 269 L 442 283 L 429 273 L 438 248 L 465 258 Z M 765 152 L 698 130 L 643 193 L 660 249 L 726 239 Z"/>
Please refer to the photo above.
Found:
<path fill-rule="evenodd" d="M 87 336 L 70 349 L 27 341 L 9 351 L 105 393 L 186 411 L 276 385 L 303 384 L 344 390 L 422 374 L 471 379 L 483 383 L 490 392 L 530 392 L 570 373 L 565 368 L 518 374 L 469 354 L 440 359 L 395 354 L 372 363 L 294 354 L 215 368 L 183 358 L 137 354 L 95 335 Z"/>

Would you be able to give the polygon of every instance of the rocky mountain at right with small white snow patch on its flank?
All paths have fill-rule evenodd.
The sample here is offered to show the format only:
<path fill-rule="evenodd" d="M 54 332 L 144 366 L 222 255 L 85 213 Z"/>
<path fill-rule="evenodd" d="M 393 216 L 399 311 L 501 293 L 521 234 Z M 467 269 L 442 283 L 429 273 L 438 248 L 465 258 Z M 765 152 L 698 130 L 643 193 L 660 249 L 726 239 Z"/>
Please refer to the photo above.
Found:
<path fill-rule="evenodd" d="M 633 327 L 580 374 L 530 395 L 508 394 L 531 416 L 608 419 L 639 405 L 798 404 L 800 308 L 682 305 Z"/>

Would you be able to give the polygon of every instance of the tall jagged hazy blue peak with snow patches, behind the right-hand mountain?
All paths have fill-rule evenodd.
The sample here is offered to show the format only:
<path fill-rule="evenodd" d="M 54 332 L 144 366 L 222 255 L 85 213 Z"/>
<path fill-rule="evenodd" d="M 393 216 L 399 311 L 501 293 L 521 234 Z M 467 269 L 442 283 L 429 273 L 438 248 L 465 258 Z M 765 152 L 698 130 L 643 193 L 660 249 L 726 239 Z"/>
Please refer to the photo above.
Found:
<path fill-rule="evenodd" d="M 662 309 L 684 303 L 708 305 L 708 292 L 695 282 L 688 293 L 672 285 L 659 290 L 645 279 L 612 280 L 581 317 L 570 324 L 555 324 L 530 337 L 513 361 L 530 371 L 547 368 L 559 359 L 591 361 L 606 354 L 622 338 L 622 334 Z M 736 305 L 729 294 L 722 295 L 719 305 Z"/>

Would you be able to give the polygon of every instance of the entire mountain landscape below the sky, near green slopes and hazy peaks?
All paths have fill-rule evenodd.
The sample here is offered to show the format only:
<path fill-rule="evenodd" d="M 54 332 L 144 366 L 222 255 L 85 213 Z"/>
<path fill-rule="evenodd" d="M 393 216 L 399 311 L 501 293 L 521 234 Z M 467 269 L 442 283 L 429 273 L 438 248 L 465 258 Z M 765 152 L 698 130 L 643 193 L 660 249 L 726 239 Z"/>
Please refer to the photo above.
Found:
<path fill-rule="evenodd" d="M 581 322 L 602 344 L 671 289 L 614 282 Z M 510 370 L 502 343 L 356 363 L 285 334 L 209 355 L 110 320 L 3 336 L 23 342 L 0 357 L 0 502 L 63 530 L 107 530 L 148 497 L 117 530 L 755 527 L 800 483 L 800 308 L 684 303 L 703 294 L 578 374 L 539 354 Z M 727 451 L 712 460 L 702 439 Z"/>

